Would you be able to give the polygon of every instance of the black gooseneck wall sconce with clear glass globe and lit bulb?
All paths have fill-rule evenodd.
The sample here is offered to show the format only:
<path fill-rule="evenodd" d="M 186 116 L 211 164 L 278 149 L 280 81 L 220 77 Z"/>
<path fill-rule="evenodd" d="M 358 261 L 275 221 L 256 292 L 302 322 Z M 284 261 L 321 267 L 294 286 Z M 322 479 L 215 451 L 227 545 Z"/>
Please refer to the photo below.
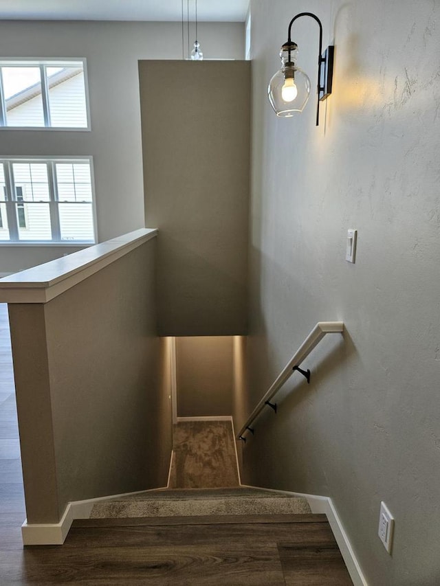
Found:
<path fill-rule="evenodd" d="M 335 47 L 329 45 L 322 54 L 322 24 L 318 16 L 311 12 L 296 14 L 289 23 L 287 43 L 281 47 L 280 57 L 283 67 L 270 80 L 267 95 L 277 116 L 288 118 L 295 112 L 302 112 L 309 100 L 310 80 L 299 67 L 296 67 L 296 49 L 290 32 L 292 25 L 300 16 L 311 16 L 319 25 L 318 52 L 318 106 L 316 109 L 316 126 L 319 124 L 319 102 L 331 94 L 333 80 L 333 55 Z"/>

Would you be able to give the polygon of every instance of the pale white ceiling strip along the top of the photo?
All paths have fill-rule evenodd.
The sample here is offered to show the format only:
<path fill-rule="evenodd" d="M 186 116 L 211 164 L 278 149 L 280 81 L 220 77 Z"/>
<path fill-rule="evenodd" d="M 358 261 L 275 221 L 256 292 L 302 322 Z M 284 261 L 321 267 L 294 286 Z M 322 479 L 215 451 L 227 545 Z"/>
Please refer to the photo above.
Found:
<path fill-rule="evenodd" d="M 0 19 L 87 21 L 195 20 L 195 0 L 0 0 Z M 197 20 L 245 21 L 249 0 L 197 0 Z"/>

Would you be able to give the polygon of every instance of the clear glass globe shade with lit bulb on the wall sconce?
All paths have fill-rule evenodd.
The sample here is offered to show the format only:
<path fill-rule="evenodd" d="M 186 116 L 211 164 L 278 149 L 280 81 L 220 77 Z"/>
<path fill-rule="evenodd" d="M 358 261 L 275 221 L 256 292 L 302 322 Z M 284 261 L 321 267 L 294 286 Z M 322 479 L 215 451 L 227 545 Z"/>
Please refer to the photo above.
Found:
<path fill-rule="evenodd" d="M 295 43 L 283 45 L 280 57 L 283 67 L 270 80 L 267 95 L 276 115 L 287 118 L 304 110 L 309 100 L 310 80 L 294 63 Z"/>

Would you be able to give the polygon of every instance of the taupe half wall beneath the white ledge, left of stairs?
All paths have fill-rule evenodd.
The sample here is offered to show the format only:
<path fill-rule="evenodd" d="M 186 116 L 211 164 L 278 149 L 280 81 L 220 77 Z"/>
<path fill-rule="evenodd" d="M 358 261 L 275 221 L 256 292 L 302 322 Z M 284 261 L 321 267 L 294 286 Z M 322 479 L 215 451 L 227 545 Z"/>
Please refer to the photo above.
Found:
<path fill-rule="evenodd" d="M 10 304 L 29 523 L 67 502 L 166 485 L 170 390 L 159 380 L 155 241 L 46 304 Z"/>

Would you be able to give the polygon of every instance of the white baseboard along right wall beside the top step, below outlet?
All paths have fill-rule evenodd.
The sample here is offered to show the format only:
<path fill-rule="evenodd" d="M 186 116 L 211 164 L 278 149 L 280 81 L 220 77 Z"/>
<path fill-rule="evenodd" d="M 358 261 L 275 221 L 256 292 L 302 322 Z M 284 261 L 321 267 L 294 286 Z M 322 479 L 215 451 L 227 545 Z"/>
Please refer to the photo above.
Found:
<path fill-rule="evenodd" d="M 284 495 L 292 495 L 292 497 L 304 497 L 307 499 L 311 512 L 313 513 L 325 513 L 327 519 L 329 519 L 329 525 L 333 535 L 338 543 L 338 548 L 342 554 L 347 570 L 350 574 L 350 578 L 353 581 L 354 586 L 368 586 L 368 583 L 362 573 L 361 567 L 356 559 L 355 552 L 351 547 L 351 543 L 344 530 L 344 526 L 340 520 L 338 512 L 333 504 L 330 497 L 321 497 L 318 495 L 306 495 L 304 493 L 292 493 L 289 491 L 276 491 L 272 488 L 261 488 L 260 486 L 248 486 L 243 484 L 245 488 L 260 488 L 264 491 L 271 491 L 272 493 L 281 493 Z"/>

